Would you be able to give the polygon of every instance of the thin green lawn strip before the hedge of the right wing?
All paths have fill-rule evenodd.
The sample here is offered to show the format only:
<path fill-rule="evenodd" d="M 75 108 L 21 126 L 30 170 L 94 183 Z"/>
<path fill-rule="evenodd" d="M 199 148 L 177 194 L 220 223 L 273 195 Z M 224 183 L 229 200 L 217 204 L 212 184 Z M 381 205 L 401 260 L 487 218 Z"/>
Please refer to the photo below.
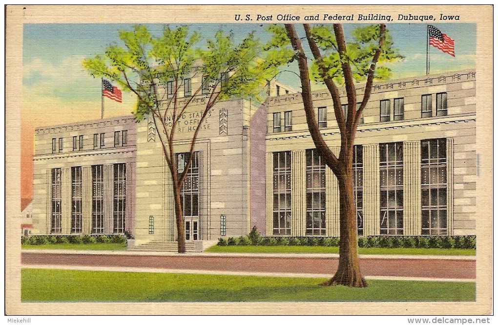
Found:
<path fill-rule="evenodd" d="M 339 253 L 339 247 L 324 246 L 213 246 L 212 253 Z M 378 255 L 476 255 L 475 249 L 444 248 L 359 248 L 360 254 Z"/>

